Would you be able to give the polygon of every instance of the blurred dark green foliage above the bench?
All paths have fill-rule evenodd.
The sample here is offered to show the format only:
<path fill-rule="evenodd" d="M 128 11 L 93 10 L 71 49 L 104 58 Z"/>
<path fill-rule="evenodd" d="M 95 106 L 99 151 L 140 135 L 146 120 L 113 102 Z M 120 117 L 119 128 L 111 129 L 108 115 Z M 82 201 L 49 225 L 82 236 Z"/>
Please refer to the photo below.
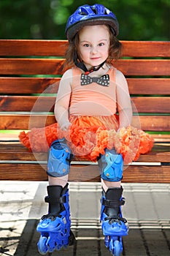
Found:
<path fill-rule="evenodd" d="M 66 20 L 82 4 L 96 1 L 1 0 L 1 39 L 66 39 Z M 119 39 L 169 40 L 170 0 L 98 0 L 120 23 Z"/>

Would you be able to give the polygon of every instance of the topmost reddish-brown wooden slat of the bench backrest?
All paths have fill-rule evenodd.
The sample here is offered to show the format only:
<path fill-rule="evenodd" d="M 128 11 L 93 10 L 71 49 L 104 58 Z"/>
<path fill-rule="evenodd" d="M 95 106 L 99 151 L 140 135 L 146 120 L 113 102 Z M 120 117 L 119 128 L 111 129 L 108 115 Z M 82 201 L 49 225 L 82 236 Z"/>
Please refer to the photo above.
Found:
<path fill-rule="evenodd" d="M 170 42 L 121 42 L 123 56 L 170 57 Z M 64 56 L 67 45 L 67 40 L 0 39 L 0 56 Z"/>

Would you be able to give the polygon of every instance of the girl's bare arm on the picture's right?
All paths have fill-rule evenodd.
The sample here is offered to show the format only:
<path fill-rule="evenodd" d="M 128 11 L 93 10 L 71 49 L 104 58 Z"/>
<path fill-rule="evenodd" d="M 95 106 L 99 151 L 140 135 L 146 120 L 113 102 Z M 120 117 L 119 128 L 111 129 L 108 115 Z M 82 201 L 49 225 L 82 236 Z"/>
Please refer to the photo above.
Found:
<path fill-rule="evenodd" d="M 119 128 L 128 127 L 132 121 L 131 97 L 128 91 L 128 83 L 122 72 L 116 72 L 117 84 L 117 110 L 119 113 Z"/>

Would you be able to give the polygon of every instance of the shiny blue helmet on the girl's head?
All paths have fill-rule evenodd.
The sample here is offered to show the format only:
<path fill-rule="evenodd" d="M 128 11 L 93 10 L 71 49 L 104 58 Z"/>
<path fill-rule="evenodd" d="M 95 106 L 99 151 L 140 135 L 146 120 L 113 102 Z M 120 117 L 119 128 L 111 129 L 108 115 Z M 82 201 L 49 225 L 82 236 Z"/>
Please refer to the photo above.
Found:
<path fill-rule="evenodd" d="M 115 37 L 119 33 L 119 23 L 113 12 L 102 4 L 82 5 L 69 17 L 66 23 L 66 37 L 72 41 L 83 26 L 109 25 Z"/>

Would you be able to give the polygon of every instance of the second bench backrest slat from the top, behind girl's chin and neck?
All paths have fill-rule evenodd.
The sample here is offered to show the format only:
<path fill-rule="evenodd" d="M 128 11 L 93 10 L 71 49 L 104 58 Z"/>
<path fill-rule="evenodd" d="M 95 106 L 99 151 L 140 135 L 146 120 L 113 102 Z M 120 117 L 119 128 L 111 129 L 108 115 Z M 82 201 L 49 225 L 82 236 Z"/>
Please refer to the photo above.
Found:
<path fill-rule="evenodd" d="M 0 59 L 1 75 L 58 75 L 64 59 Z M 120 59 L 115 67 L 124 75 L 169 75 L 167 59 Z"/>

